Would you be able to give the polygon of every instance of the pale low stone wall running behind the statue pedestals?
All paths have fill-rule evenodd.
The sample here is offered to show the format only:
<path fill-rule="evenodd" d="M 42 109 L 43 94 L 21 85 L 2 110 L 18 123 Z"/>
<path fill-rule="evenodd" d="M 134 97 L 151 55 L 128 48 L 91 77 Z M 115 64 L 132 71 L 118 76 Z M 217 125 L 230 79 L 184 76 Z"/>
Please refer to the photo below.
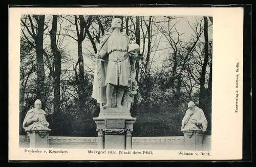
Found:
<path fill-rule="evenodd" d="M 98 137 L 66 137 L 49 136 L 49 148 L 84 148 L 97 149 Z M 204 137 L 203 148 L 210 150 L 211 136 Z M 19 146 L 28 148 L 29 137 L 19 136 Z M 146 150 L 182 150 L 184 147 L 184 136 L 164 137 L 132 137 L 133 149 Z"/>

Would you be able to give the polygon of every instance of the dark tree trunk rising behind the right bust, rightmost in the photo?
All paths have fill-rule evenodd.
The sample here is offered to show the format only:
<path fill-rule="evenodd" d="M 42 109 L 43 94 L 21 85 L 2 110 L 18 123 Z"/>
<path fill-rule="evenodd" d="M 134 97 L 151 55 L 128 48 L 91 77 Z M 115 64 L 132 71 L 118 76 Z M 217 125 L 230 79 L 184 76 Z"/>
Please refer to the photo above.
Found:
<path fill-rule="evenodd" d="M 200 96 L 199 96 L 199 106 L 205 109 L 205 73 L 206 67 L 209 61 L 209 48 L 208 48 L 208 22 L 207 17 L 204 17 L 204 63 L 201 71 L 200 80 Z"/>

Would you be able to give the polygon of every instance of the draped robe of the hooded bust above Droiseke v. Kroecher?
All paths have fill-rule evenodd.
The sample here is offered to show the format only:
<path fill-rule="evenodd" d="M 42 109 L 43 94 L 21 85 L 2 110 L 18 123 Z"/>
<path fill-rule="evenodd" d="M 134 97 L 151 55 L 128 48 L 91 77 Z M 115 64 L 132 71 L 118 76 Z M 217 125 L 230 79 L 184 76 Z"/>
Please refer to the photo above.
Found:
<path fill-rule="evenodd" d="M 26 116 L 25 119 L 23 121 L 23 128 L 25 129 L 25 131 L 31 131 L 31 130 L 50 130 L 48 128 L 49 123 L 46 120 L 45 117 L 46 113 L 44 110 L 42 109 L 36 109 L 36 108 L 32 108 L 30 109 Z M 38 118 L 38 122 L 33 122 L 32 124 L 28 124 L 28 121 L 30 119 L 37 119 Z"/>

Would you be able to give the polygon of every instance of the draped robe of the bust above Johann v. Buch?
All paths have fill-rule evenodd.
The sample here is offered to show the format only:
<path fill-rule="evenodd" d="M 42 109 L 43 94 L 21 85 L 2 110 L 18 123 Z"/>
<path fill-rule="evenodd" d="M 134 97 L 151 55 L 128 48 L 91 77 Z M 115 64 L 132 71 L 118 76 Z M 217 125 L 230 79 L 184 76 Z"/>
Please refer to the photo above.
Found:
<path fill-rule="evenodd" d="M 186 110 L 186 114 L 181 121 L 181 131 L 192 131 L 192 130 L 200 130 L 205 132 L 207 129 L 207 120 L 205 118 L 204 112 L 201 108 L 195 106 L 194 114 L 189 116 L 190 109 Z M 193 122 L 197 122 L 200 124 L 195 124 Z"/>

